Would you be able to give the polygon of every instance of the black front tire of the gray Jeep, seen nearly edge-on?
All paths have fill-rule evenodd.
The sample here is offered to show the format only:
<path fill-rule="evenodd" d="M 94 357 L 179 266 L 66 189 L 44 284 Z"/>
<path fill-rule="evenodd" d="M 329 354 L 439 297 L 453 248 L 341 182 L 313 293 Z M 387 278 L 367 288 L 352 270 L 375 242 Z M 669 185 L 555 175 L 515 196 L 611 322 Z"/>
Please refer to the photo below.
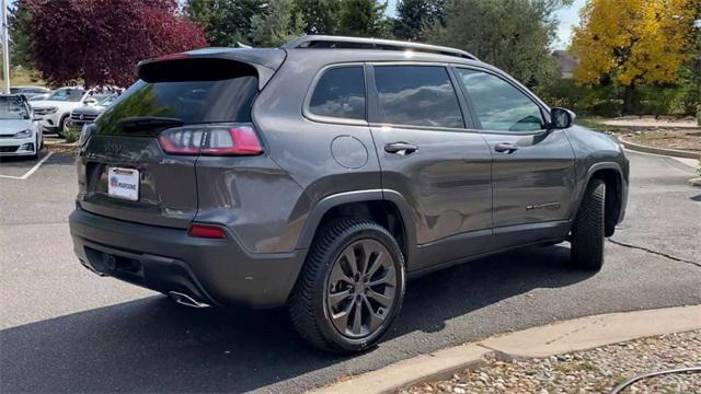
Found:
<path fill-rule="evenodd" d="M 598 270 L 604 265 L 606 184 L 591 179 L 572 227 L 572 266 Z"/>

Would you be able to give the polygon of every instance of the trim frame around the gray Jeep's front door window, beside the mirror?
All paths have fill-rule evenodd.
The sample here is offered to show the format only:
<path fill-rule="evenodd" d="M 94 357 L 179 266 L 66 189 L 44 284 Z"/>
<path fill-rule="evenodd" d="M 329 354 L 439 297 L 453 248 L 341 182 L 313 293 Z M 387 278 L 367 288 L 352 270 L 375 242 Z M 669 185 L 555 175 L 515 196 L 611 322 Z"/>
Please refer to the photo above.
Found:
<path fill-rule="evenodd" d="M 453 65 L 451 65 L 451 68 L 456 72 L 456 79 L 458 79 L 458 81 L 459 81 L 458 69 L 480 71 L 480 72 L 484 72 L 484 73 L 487 73 L 487 74 L 491 74 L 493 77 L 496 77 L 496 78 L 501 79 L 502 81 L 504 81 L 504 82 L 508 83 L 509 85 L 512 85 L 517 91 L 521 92 L 533 104 L 536 104 L 536 106 L 538 106 L 538 108 L 540 111 L 540 116 L 545 121 L 545 128 L 538 129 L 538 130 L 532 130 L 532 131 L 508 131 L 508 130 L 485 129 L 484 127 L 482 127 L 482 123 L 480 121 L 480 118 L 478 116 L 476 109 L 474 107 L 474 103 L 472 101 L 472 96 L 470 95 L 470 92 L 468 92 L 468 88 L 464 85 L 464 83 L 459 81 L 460 82 L 459 83 L 460 91 L 464 95 L 464 100 L 468 103 L 468 108 L 470 111 L 470 115 L 474 118 L 474 128 L 479 132 L 492 134 L 492 135 L 509 135 L 509 136 L 539 136 L 539 135 L 543 135 L 543 134 L 549 131 L 548 124 L 550 124 L 550 115 L 549 115 L 550 114 L 550 108 L 548 107 L 548 105 L 545 105 L 538 96 L 536 96 L 532 92 L 530 92 L 525 86 L 522 86 L 520 83 L 518 83 L 518 81 L 514 80 L 512 77 L 509 77 L 507 74 L 502 74 L 502 73 L 496 72 L 494 70 L 491 70 L 491 69 L 487 69 L 487 68 L 483 68 L 483 67 L 479 67 L 479 66 L 466 66 L 466 65 L 455 65 L 453 63 Z M 514 82 L 516 82 L 516 83 L 514 83 Z"/>

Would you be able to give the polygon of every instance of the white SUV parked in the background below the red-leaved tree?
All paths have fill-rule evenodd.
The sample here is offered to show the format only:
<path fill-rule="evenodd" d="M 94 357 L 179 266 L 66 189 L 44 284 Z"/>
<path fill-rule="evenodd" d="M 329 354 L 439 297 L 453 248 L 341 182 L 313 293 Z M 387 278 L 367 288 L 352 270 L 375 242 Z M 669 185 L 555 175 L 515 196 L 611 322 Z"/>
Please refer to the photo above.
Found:
<path fill-rule="evenodd" d="M 71 111 L 83 105 L 94 105 L 107 94 L 110 91 L 105 89 L 85 91 L 82 86 L 66 86 L 57 89 L 46 100 L 31 104 L 34 114 L 42 117 L 42 129 L 62 136 L 68 127 Z"/>

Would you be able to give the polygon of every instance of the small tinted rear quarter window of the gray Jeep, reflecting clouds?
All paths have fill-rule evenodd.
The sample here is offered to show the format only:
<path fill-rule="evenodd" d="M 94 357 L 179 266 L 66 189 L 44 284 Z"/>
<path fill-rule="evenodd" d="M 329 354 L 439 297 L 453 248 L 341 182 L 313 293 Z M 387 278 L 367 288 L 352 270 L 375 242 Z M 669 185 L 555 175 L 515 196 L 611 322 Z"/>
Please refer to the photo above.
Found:
<path fill-rule="evenodd" d="M 365 77 L 363 67 L 338 67 L 319 79 L 309 103 L 319 116 L 365 119 Z"/>

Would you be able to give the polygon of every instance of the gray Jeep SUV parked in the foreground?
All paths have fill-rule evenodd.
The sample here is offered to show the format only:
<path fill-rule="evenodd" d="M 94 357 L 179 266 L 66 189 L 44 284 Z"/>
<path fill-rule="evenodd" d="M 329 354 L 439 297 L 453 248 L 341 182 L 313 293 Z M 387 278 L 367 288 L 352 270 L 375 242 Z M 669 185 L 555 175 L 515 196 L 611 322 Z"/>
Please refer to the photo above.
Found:
<path fill-rule="evenodd" d="M 570 241 L 598 269 L 624 215 L 621 147 L 461 50 L 303 36 L 138 77 L 81 136 L 82 265 L 189 306 L 287 305 L 326 350 L 376 344 L 407 278 L 453 264 Z"/>

